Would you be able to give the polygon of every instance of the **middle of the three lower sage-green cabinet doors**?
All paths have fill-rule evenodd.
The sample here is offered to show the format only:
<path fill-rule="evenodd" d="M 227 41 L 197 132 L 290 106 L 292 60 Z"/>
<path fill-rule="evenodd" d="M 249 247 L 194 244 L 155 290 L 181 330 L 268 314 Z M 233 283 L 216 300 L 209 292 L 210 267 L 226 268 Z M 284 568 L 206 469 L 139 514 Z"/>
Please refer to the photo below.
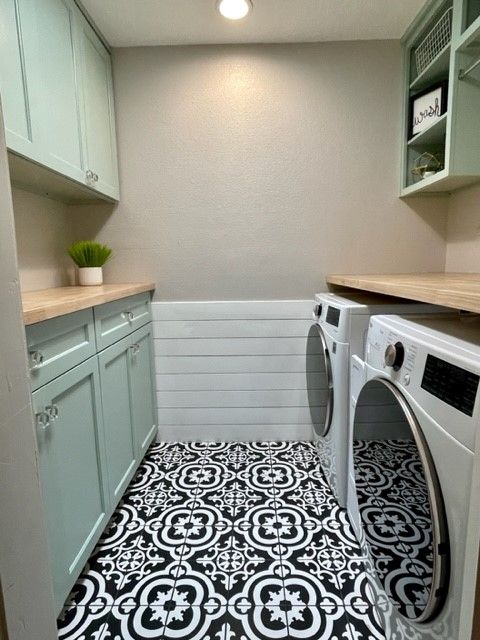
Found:
<path fill-rule="evenodd" d="M 131 338 L 127 336 L 98 356 L 108 451 L 108 485 L 114 504 L 125 491 L 136 463 L 131 416 L 131 344 Z"/>

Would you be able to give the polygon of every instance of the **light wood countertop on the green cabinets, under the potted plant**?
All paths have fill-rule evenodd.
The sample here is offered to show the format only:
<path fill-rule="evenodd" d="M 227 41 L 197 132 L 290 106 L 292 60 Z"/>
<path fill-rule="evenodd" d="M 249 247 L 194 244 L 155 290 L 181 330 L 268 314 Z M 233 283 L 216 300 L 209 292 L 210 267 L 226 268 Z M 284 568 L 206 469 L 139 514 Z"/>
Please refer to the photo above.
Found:
<path fill-rule="evenodd" d="M 136 293 L 153 291 L 152 282 L 102 284 L 93 287 L 55 287 L 22 293 L 23 321 L 35 324 Z"/>

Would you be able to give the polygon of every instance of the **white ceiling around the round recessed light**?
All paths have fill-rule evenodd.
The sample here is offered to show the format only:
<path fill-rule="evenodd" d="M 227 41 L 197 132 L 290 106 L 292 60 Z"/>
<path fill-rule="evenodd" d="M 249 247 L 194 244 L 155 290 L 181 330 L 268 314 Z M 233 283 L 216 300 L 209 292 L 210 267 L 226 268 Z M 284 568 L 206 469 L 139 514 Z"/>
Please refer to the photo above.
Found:
<path fill-rule="evenodd" d="M 400 38 L 425 0 L 253 0 L 244 20 L 215 0 L 82 0 L 113 47 Z"/>

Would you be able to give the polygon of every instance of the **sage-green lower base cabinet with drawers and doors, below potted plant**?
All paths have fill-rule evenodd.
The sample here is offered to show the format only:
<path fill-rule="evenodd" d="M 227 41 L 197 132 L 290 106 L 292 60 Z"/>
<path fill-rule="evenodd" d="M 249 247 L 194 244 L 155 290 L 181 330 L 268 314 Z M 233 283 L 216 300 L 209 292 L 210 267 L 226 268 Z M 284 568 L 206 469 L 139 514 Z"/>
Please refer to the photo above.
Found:
<path fill-rule="evenodd" d="M 122 328 L 128 335 L 99 351 L 94 317 L 115 318 L 119 302 L 138 313 Z M 135 318 L 143 323 L 136 330 Z M 44 355 L 32 399 L 60 613 L 156 434 L 149 294 L 46 320 L 26 333 L 29 348 Z"/>

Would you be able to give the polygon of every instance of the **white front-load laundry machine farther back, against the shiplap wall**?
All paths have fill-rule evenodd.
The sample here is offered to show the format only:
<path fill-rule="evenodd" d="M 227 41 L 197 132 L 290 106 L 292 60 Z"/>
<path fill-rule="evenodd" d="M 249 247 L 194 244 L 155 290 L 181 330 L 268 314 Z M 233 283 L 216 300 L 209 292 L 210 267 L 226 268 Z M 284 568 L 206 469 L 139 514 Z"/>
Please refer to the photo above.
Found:
<path fill-rule="evenodd" d="M 363 357 L 372 315 L 439 314 L 452 310 L 368 293 L 315 296 L 307 340 L 307 391 L 314 439 L 327 480 L 347 506 L 350 356 Z"/>

